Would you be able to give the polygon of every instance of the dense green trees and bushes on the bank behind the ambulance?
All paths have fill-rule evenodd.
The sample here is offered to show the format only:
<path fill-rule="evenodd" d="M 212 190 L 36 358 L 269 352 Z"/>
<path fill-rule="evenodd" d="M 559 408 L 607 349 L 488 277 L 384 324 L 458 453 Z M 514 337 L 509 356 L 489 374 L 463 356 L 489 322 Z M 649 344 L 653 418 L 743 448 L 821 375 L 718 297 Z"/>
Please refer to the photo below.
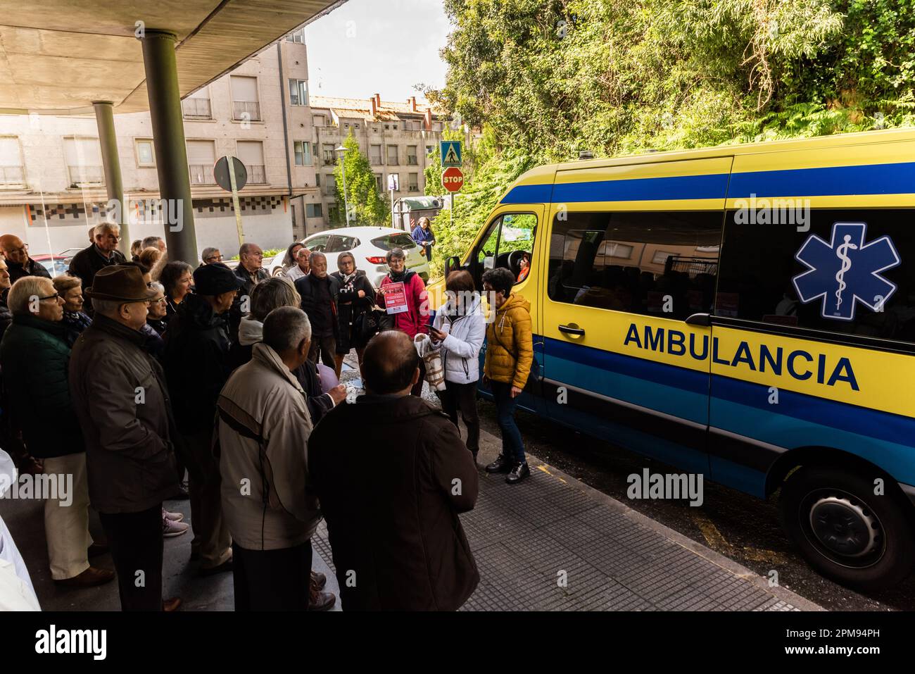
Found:
<path fill-rule="evenodd" d="M 445 0 L 456 28 L 430 100 L 483 127 L 465 148 L 462 255 L 538 164 L 915 122 L 915 0 Z M 435 180 L 429 180 L 433 190 Z M 440 264 L 440 263 L 439 263 Z M 440 267 L 439 267 L 440 270 Z"/>

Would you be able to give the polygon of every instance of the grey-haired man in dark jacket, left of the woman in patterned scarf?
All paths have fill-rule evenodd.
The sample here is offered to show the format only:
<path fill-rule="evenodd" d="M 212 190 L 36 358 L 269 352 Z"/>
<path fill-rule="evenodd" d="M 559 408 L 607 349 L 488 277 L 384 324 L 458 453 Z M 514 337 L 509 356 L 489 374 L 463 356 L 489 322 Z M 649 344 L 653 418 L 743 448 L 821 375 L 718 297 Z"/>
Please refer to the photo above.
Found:
<path fill-rule="evenodd" d="M 312 363 L 321 362 L 334 371 L 337 370 L 337 298 L 340 284 L 336 277 L 328 274 L 328 258 L 323 253 L 308 255 L 311 273 L 296 281 L 296 290 L 302 297 L 302 310 L 311 321 L 311 352 L 308 358 Z"/>

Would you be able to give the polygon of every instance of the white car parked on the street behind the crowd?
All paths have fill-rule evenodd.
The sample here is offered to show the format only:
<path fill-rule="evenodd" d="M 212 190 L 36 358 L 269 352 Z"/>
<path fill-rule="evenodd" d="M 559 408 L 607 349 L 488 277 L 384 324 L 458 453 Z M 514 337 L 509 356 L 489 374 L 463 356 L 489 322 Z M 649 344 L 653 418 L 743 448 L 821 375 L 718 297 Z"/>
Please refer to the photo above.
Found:
<path fill-rule="evenodd" d="M 410 234 L 393 227 L 339 227 L 312 234 L 300 243 L 312 253 L 327 255 L 328 274 L 337 271 L 337 255 L 352 253 L 356 267 L 365 272 L 375 288 L 382 285 L 382 278 L 388 273 L 384 255 L 393 248 L 403 248 L 407 269 L 419 274 L 423 281 L 429 280 L 429 261 L 425 255 L 420 255 L 420 246 Z M 283 257 L 282 253 L 276 255 L 269 266 L 264 261 L 264 268 L 271 276 L 276 276 L 283 268 Z"/>

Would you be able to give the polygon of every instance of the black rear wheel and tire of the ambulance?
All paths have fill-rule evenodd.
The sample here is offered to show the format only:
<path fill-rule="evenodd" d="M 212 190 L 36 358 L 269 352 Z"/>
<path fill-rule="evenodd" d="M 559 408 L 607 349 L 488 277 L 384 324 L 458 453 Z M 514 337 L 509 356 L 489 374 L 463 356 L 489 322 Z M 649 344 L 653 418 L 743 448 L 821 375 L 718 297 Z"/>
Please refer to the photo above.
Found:
<path fill-rule="evenodd" d="M 791 473 L 781 487 L 781 525 L 821 575 L 859 590 L 885 590 L 915 565 L 910 509 L 891 490 L 889 477 L 883 477 L 884 495 L 875 495 L 873 475 L 852 471 L 814 464 Z"/>

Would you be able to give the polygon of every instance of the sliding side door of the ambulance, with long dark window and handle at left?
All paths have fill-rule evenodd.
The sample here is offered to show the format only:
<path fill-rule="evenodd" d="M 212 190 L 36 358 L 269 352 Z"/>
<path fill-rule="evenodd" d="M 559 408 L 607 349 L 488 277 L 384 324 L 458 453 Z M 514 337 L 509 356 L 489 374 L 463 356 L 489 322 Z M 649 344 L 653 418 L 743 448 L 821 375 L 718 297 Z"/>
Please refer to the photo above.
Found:
<path fill-rule="evenodd" d="M 548 413 L 694 473 L 708 469 L 708 316 L 730 166 L 559 171 L 549 219 Z"/>

